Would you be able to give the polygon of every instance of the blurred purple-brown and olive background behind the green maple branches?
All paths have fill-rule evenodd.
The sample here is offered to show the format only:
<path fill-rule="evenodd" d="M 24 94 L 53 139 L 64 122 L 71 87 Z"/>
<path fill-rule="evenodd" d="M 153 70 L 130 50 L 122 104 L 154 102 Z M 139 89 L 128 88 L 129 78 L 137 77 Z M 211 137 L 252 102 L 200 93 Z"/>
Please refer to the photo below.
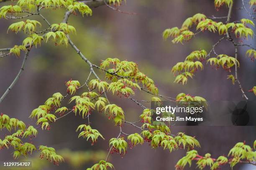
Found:
<path fill-rule="evenodd" d="M 1 6 L 5 4 L 15 4 L 15 2 L 0 3 Z M 238 9 L 241 7 L 240 0 L 235 0 L 234 5 L 231 21 L 249 18 L 244 10 Z M 137 13 L 137 15 L 118 13 L 106 6 L 101 6 L 92 9 L 91 17 L 70 16 L 69 24 L 77 29 L 77 35 L 70 35 L 70 37 L 92 63 L 99 65 L 100 60 L 107 57 L 134 61 L 138 63 L 141 72 L 155 81 L 159 88 L 159 94 L 170 97 L 176 97 L 180 92 L 184 92 L 204 97 L 207 100 L 243 100 L 238 85 L 233 85 L 230 80 L 226 79 L 229 73 L 223 69 L 214 70 L 209 65 L 205 65 L 204 70 L 198 71 L 186 85 L 174 83 L 172 67 L 177 62 L 184 61 L 187 55 L 194 50 L 205 49 L 209 52 L 211 46 L 220 39 L 218 34 L 206 31 L 198 34 L 189 42 L 184 42 L 184 45 L 172 44 L 171 39 L 164 41 L 162 38 L 162 32 L 166 28 L 181 27 L 186 18 L 192 17 L 196 13 L 203 13 L 206 16 L 227 16 L 228 8 L 222 7 L 216 11 L 213 0 L 127 0 L 127 4 L 122 5 L 120 10 Z M 42 10 L 42 14 L 50 23 L 60 23 L 64 12 L 64 9 Z M 37 16 L 31 18 L 44 23 Z M 225 20 L 219 21 L 225 22 Z M 13 22 L 17 22 L 17 20 L 0 20 L 2 32 L 0 48 L 19 45 L 27 36 L 22 32 L 6 34 L 9 25 Z M 255 46 L 253 40 L 246 42 Z M 238 60 L 241 64 L 241 67 L 238 68 L 238 76 L 246 95 L 251 100 L 255 100 L 256 97 L 248 90 L 256 85 L 256 65 L 255 62 L 251 62 L 250 58 L 245 57 L 246 50 L 248 50 L 247 47 L 238 49 Z M 215 48 L 215 51 L 218 54 L 225 53 L 234 56 L 233 45 L 225 40 Z M 17 75 L 23 55 L 22 53 L 20 57 L 1 58 L 1 95 Z M 96 71 L 101 78 L 104 78 L 104 73 Z M 16 117 L 26 125 L 36 126 L 36 121 L 28 118 L 31 111 L 38 105 L 44 104 L 45 100 L 55 92 L 66 94 L 65 82 L 71 78 L 79 80 L 83 84 L 88 73 L 88 65 L 69 45 L 66 47 L 65 45 L 55 46 L 54 42 L 42 43 L 41 47 L 31 50 L 26 68 L 18 83 L 0 104 L 0 112 L 10 117 Z M 87 91 L 85 88 L 79 90 L 77 95 L 85 91 Z M 127 98 L 119 98 L 111 93 L 108 97 L 111 103 L 123 108 L 127 121 L 138 120 L 138 116 L 142 112 L 141 107 Z M 151 96 L 137 91 L 133 98 L 150 100 Z M 63 102 L 63 106 L 71 108 L 72 104 L 67 105 L 67 101 L 68 99 Z M 150 105 L 147 106 L 150 107 Z M 100 139 L 97 144 L 91 146 L 86 140 L 78 139 L 78 133 L 75 133 L 77 126 L 85 122 L 87 121 L 82 120 L 82 117 L 69 114 L 52 123 L 51 130 L 38 129 L 38 136 L 33 138 L 33 144 L 36 146 L 54 147 L 56 153 L 64 157 L 64 163 L 60 163 L 59 166 L 53 165 L 47 160 L 41 160 L 36 152 L 25 160 L 32 160 L 35 170 L 84 170 L 99 160 L 105 160 L 108 152 L 108 140 L 118 135 L 119 128 L 115 127 L 105 114 L 93 112 L 91 115 L 92 128 L 99 130 L 106 140 Z M 140 133 L 139 130 L 127 124 L 123 126 L 123 131 L 128 134 Z M 246 141 L 247 145 L 252 146 L 256 139 L 255 126 L 171 127 L 172 134 L 178 132 L 195 136 L 201 144 L 201 148 L 196 148 L 199 154 L 204 155 L 209 152 L 212 154 L 212 158 L 219 155 L 227 156 L 228 151 L 237 142 Z M 0 138 L 3 139 L 8 134 L 8 131 L 0 131 Z M 0 161 L 13 160 L 12 152 L 12 148 L 0 150 Z M 174 165 L 185 153 L 186 150 L 182 149 L 172 153 L 162 148 L 151 149 L 151 146 L 144 143 L 143 146 L 137 145 L 133 149 L 128 149 L 128 153 L 124 156 L 110 155 L 109 162 L 113 163 L 116 170 L 173 170 Z M 20 157 L 19 161 L 23 159 Z M 251 165 L 238 165 L 234 169 L 253 170 L 253 168 L 255 169 Z M 195 164 L 191 169 L 195 169 Z M 225 166 L 223 169 L 230 168 Z"/>

